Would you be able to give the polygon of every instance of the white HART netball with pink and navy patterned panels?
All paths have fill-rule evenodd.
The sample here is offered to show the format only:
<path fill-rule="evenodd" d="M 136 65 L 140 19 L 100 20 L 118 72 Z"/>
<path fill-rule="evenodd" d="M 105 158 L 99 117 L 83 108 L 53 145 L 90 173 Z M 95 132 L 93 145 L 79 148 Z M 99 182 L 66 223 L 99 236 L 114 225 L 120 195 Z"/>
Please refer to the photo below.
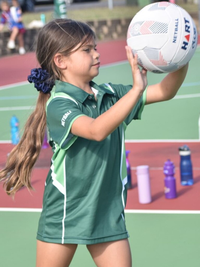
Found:
<path fill-rule="evenodd" d="M 184 66 L 197 48 L 197 28 L 182 7 L 170 2 L 145 6 L 132 19 L 127 45 L 139 64 L 154 73 L 173 72 Z"/>

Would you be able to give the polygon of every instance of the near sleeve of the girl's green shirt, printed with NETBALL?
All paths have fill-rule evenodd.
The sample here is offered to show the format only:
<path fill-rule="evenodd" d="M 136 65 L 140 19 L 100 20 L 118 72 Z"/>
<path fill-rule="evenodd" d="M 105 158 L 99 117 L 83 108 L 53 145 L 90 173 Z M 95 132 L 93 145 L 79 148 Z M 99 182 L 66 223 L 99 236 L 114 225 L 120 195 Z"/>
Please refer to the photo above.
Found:
<path fill-rule="evenodd" d="M 47 106 L 47 127 L 50 139 L 67 150 L 78 138 L 70 133 L 71 125 L 80 116 L 86 116 L 75 100 L 55 98 Z"/>

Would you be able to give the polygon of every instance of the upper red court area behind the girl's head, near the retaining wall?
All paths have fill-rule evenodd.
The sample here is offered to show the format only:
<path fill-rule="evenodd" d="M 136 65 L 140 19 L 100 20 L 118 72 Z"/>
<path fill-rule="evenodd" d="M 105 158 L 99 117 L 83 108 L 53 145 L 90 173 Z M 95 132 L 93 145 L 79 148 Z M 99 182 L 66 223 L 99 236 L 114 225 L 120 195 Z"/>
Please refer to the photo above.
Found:
<path fill-rule="evenodd" d="M 97 51 L 100 53 L 101 65 L 126 60 L 126 40 L 99 42 Z M 30 70 L 38 68 L 35 53 L 14 55 L 0 58 L 0 86 L 26 81 Z"/>

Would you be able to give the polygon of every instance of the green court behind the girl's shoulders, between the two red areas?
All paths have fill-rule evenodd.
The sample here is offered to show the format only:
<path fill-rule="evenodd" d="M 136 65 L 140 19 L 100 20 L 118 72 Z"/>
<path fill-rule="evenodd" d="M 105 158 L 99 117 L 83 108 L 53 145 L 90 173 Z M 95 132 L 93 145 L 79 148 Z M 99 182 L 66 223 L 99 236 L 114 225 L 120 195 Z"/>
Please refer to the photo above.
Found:
<path fill-rule="evenodd" d="M 170 101 L 147 105 L 142 120 L 133 121 L 128 126 L 126 139 L 198 139 L 199 60 L 200 47 L 190 61 L 186 79 L 177 96 Z M 164 76 L 165 74 L 148 73 L 148 83 L 157 83 Z M 103 66 L 94 81 L 97 84 L 132 84 L 130 66 L 127 62 Z M 31 112 L 30 107 L 37 101 L 38 92 L 33 84 L 3 88 L 0 88 L 0 139 L 10 140 L 11 116 L 19 118 L 22 128 Z"/>

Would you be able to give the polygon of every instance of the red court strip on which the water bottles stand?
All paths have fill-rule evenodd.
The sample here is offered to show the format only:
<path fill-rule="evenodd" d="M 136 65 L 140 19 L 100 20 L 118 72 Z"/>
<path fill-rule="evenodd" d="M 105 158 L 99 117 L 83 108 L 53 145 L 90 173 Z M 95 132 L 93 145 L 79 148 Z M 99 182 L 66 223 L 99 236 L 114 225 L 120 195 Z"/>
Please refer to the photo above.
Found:
<path fill-rule="evenodd" d="M 191 149 L 193 163 L 193 186 L 181 186 L 179 177 L 179 154 L 178 147 L 184 143 L 126 143 L 126 150 L 130 150 L 129 160 L 131 167 L 138 165 L 149 165 L 151 180 L 152 202 L 146 205 L 139 204 L 137 177 L 135 170 L 131 171 L 133 188 L 128 190 L 126 209 L 145 210 L 200 210 L 200 168 L 199 151 L 200 143 L 187 142 Z M 5 155 L 11 150 L 11 144 L 1 144 L 0 168 L 5 162 Z M 177 198 L 166 199 L 164 195 L 164 178 L 162 167 L 164 162 L 170 159 L 176 167 Z M 33 171 L 32 185 L 35 191 L 26 188 L 17 192 L 14 201 L 3 192 L 0 186 L 0 207 L 15 208 L 41 208 L 42 195 L 46 175 L 51 160 L 51 149 L 43 149 Z M 41 166 L 43 166 L 41 168 Z"/>

